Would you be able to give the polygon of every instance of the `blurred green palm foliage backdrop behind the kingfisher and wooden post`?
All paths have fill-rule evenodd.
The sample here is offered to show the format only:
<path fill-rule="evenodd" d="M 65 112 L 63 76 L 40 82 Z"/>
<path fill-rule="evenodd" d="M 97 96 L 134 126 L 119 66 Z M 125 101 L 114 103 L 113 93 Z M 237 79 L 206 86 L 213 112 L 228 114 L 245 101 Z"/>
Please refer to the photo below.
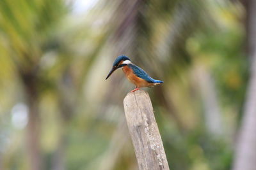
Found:
<path fill-rule="evenodd" d="M 246 13 L 228 0 L 1 0 L 0 169 L 137 169 L 122 105 L 134 85 L 120 70 L 105 80 L 121 54 L 164 81 L 144 90 L 170 169 L 231 169 Z"/>

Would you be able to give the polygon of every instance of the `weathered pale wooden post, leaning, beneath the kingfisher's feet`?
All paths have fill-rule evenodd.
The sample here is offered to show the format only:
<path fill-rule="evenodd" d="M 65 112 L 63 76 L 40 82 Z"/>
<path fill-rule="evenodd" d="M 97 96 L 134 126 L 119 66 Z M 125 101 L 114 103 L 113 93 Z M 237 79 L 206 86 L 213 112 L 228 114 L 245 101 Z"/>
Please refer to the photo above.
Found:
<path fill-rule="evenodd" d="M 127 94 L 124 111 L 140 170 L 169 169 L 148 93 Z"/>

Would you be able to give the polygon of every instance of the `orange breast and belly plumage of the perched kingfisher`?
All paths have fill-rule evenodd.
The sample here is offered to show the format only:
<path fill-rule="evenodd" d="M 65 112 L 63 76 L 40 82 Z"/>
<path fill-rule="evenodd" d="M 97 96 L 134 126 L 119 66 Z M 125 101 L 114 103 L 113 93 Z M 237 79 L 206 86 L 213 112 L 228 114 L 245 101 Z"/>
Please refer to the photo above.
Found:
<path fill-rule="evenodd" d="M 150 87 L 153 85 L 152 83 L 148 83 L 148 81 L 136 76 L 129 66 L 124 66 L 122 69 L 128 80 L 131 81 L 131 83 L 134 83 L 136 87 Z"/>

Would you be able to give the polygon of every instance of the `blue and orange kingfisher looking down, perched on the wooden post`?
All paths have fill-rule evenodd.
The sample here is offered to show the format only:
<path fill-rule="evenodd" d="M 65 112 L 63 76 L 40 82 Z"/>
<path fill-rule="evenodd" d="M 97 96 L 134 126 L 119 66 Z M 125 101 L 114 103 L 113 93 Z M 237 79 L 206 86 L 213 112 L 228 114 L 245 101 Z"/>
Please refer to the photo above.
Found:
<path fill-rule="evenodd" d="M 136 86 L 136 88 L 131 90 L 131 92 L 139 90 L 140 87 L 153 87 L 164 82 L 160 80 L 154 80 L 153 78 L 148 76 L 148 74 L 143 69 L 133 64 L 131 62 L 131 59 L 129 59 L 129 57 L 125 55 L 120 55 L 116 58 L 111 71 L 106 77 L 106 80 L 116 69 L 121 67 L 127 79 L 131 81 L 131 83 L 134 83 L 134 85 Z"/>

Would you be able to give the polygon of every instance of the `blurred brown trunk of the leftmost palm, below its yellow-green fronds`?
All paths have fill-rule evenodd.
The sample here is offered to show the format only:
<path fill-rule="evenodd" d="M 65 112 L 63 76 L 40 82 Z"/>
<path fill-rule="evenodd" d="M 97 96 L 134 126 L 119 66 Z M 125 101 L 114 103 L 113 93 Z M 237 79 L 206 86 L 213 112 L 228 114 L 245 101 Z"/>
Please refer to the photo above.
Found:
<path fill-rule="evenodd" d="M 40 118 L 38 113 L 38 91 L 36 86 L 36 72 L 29 71 L 21 73 L 22 81 L 28 100 L 28 126 L 27 126 L 27 147 L 31 170 L 42 169 L 42 159 L 40 155 Z"/>

